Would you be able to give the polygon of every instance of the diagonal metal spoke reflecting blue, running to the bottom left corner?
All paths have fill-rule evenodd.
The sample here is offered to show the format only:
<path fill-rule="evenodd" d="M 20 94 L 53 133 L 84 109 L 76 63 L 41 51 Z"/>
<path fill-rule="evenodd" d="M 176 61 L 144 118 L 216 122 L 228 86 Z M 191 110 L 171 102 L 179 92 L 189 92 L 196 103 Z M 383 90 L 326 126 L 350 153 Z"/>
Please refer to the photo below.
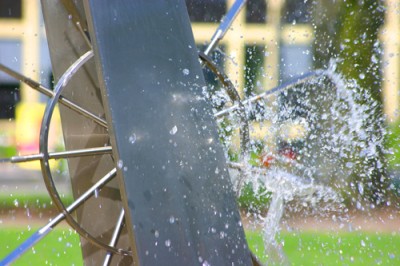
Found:
<path fill-rule="evenodd" d="M 75 211 L 82 203 L 88 200 L 95 194 L 95 191 L 107 184 L 112 178 L 115 177 L 117 170 L 114 168 L 102 179 L 100 179 L 96 184 L 94 184 L 90 189 L 88 189 L 82 196 L 76 199 L 71 205 L 66 208 L 68 214 Z M 7 257 L 0 261 L 0 265 L 10 265 L 31 247 L 33 247 L 37 242 L 39 242 L 43 237 L 45 237 L 51 230 L 58 225 L 61 221 L 65 219 L 65 213 L 60 213 L 54 217 L 48 224 L 43 226 L 33 235 L 31 235 L 27 240 L 20 244 L 13 252 L 11 252 Z"/>

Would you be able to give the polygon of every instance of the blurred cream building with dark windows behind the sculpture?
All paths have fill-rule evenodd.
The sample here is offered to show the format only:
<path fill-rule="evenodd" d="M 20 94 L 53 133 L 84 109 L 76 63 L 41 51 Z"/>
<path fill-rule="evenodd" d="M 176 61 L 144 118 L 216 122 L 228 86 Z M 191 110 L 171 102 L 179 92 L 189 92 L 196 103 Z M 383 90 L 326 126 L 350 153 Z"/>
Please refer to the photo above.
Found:
<path fill-rule="evenodd" d="M 234 0 L 186 0 L 199 47 L 210 40 Z M 269 90 L 313 69 L 312 1 L 250 0 L 214 57 L 241 96 Z M 382 93 L 388 121 L 397 119 L 399 1 L 387 1 L 382 29 Z M 0 63 L 52 86 L 51 65 L 39 0 L 0 0 Z M 246 88 L 246 89 L 244 89 Z M 0 73 L 0 157 L 35 153 L 46 98 Z M 55 137 L 57 138 L 57 137 Z M 57 143 L 55 140 L 54 143 Z M 57 145 L 57 144 L 55 144 Z"/>

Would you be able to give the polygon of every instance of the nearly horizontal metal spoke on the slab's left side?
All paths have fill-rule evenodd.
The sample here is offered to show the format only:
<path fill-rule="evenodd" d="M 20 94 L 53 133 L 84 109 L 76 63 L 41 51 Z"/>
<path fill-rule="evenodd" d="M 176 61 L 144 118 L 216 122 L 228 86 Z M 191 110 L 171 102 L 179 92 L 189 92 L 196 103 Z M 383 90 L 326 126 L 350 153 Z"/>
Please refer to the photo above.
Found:
<path fill-rule="evenodd" d="M 49 159 L 67 159 L 81 156 L 95 156 L 95 155 L 104 155 L 111 154 L 112 147 L 99 147 L 99 148 L 88 148 L 88 149 L 79 149 L 74 151 L 60 151 L 60 152 L 49 152 Z M 21 155 L 21 156 L 13 156 L 11 158 L 0 159 L 0 162 L 10 162 L 10 163 L 24 163 L 30 161 L 37 161 L 43 159 L 44 155 L 42 153 L 39 154 L 31 154 L 31 155 Z"/>

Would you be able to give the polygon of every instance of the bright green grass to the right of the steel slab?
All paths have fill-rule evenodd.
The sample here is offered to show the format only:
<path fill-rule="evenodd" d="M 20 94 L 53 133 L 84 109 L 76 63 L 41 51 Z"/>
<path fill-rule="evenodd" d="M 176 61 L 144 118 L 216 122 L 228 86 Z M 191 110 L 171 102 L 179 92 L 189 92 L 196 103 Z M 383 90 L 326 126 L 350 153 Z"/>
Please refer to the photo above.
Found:
<path fill-rule="evenodd" d="M 247 232 L 250 248 L 267 258 L 260 234 Z M 400 235 L 366 232 L 282 233 L 279 243 L 292 265 L 400 265 Z"/>

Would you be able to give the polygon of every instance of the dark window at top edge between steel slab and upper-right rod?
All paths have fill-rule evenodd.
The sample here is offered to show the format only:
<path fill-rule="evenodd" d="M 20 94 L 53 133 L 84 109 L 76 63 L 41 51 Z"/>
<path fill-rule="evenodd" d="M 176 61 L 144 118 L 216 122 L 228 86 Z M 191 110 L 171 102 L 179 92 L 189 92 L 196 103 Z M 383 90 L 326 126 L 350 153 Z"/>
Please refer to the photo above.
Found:
<path fill-rule="evenodd" d="M 192 22 L 220 22 L 226 12 L 225 0 L 186 0 Z"/>

